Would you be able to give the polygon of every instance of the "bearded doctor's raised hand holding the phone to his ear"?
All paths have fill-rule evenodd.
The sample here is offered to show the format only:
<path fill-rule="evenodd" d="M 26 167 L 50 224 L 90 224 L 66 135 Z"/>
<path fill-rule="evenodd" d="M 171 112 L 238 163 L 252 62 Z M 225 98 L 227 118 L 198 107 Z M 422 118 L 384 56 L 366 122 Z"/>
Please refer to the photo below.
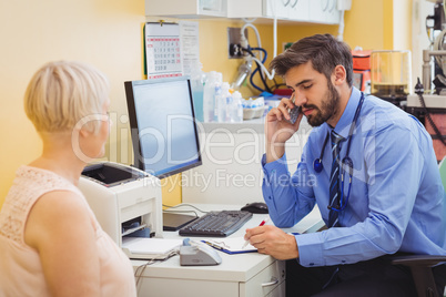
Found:
<path fill-rule="evenodd" d="M 288 109 L 293 109 L 294 94 L 291 99 L 283 98 L 277 107 L 272 109 L 265 119 L 266 163 L 281 158 L 285 153 L 285 142 L 298 130 L 303 117 L 301 112 L 294 124 L 290 122 Z"/>

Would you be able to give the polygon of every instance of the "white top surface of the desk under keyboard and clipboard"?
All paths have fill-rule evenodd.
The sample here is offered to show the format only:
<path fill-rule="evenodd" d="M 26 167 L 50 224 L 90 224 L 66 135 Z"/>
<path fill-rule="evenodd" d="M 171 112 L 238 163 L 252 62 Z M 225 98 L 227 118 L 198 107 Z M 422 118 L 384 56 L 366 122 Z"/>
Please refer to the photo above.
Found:
<path fill-rule="evenodd" d="M 242 205 L 215 205 L 215 204 L 194 204 L 203 211 L 221 211 L 221 209 L 240 209 Z M 190 206 L 182 206 L 175 209 L 192 209 Z M 253 218 L 231 237 L 244 236 L 245 229 L 259 226 L 259 224 L 266 218 L 267 215 L 254 214 Z M 272 224 L 272 223 L 270 223 Z M 293 228 L 284 229 L 285 232 L 314 232 L 323 226 L 318 209 L 315 207 L 311 214 L 302 219 Z M 164 238 L 186 238 L 180 236 L 178 232 L 163 232 Z M 206 237 L 190 237 L 193 240 L 206 239 Z M 215 237 L 213 238 L 215 239 Z M 163 278 L 182 278 L 182 279 L 201 279 L 201 280 L 234 280 L 247 281 L 262 269 L 274 263 L 275 259 L 267 255 L 257 253 L 229 255 L 219 252 L 222 257 L 222 264 L 216 266 L 181 266 L 180 256 L 173 256 L 165 262 L 156 262 L 148 266 L 142 276 L 143 277 L 163 277 Z M 132 260 L 133 267 L 136 269 L 139 266 L 144 265 L 144 260 Z"/>

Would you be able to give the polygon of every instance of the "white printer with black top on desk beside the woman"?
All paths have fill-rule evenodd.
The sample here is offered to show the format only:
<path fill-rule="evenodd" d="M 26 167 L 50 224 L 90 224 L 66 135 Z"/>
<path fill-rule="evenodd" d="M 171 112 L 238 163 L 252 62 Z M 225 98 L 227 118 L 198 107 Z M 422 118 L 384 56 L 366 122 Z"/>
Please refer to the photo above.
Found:
<path fill-rule="evenodd" d="M 162 237 L 159 178 L 128 165 L 100 162 L 84 168 L 79 188 L 102 229 L 121 248 L 125 236 Z"/>

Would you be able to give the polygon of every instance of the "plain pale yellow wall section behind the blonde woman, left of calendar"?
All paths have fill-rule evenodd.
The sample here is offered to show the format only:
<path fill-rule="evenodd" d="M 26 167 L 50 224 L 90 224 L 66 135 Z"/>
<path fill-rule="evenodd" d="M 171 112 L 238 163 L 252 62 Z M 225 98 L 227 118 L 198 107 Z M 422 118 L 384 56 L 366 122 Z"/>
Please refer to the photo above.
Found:
<path fill-rule="evenodd" d="M 41 152 L 22 106 L 31 75 L 52 60 L 94 64 L 110 80 L 110 111 L 120 119 L 123 81 L 142 78 L 144 20 L 142 0 L 0 1 L 0 205 L 16 168 Z"/>

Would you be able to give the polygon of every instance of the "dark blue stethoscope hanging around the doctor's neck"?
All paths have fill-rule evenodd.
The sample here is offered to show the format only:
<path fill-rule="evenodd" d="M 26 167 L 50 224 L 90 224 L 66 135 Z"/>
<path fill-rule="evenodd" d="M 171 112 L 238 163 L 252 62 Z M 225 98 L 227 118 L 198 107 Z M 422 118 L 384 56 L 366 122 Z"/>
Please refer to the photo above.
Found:
<path fill-rule="evenodd" d="M 351 125 L 349 131 L 348 131 L 347 152 L 346 152 L 344 158 L 342 160 L 342 166 L 341 166 L 341 205 L 338 205 L 338 206 L 328 205 L 328 209 L 333 209 L 333 211 L 336 211 L 336 212 L 344 211 L 344 208 L 347 206 L 347 203 L 348 203 L 349 191 L 352 188 L 352 178 L 353 178 L 353 161 L 349 157 L 349 146 L 352 144 L 353 131 L 355 130 L 356 122 L 357 122 L 357 119 L 359 116 L 359 111 L 361 111 L 361 107 L 363 106 L 363 102 L 364 102 L 364 93 L 361 92 L 361 100 L 359 100 L 359 103 L 357 104 L 357 107 L 356 107 L 356 111 L 355 111 L 355 116 L 353 117 L 352 125 Z M 327 132 L 327 135 L 325 136 L 324 144 L 322 145 L 321 156 L 318 158 L 314 160 L 314 162 L 313 162 L 313 168 L 314 168 L 314 171 L 316 173 L 321 173 L 322 170 L 324 168 L 324 165 L 322 164 L 322 158 L 324 157 L 324 151 L 325 151 L 325 146 L 326 146 L 326 144 L 328 142 L 328 139 L 330 139 L 330 132 Z M 349 176 L 348 177 L 348 192 L 347 192 L 347 197 L 345 198 L 345 201 L 343 199 L 344 198 L 344 173 L 345 173 L 344 165 L 348 166 L 348 176 Z"/>

